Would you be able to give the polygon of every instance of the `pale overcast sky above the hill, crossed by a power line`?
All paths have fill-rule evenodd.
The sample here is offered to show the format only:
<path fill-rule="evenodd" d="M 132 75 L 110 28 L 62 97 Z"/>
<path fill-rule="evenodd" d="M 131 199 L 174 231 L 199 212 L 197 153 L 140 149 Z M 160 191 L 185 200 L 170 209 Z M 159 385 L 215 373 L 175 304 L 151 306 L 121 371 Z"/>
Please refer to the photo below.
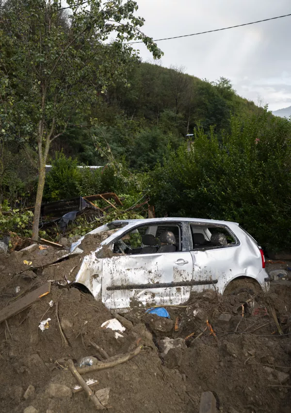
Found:
<path fill-rule="evenodd" d="M 143 31 L 154 39 L 219 29 L 291 13 L 291 0 L 137 0 Z M 291 17 L 223 32 L 158 42 L 162 66 L 215 81 L 224 76 L 238 94 L 268 103 L 270 110 L 291 106 Z M 139 45 L 143 60 L 151 55 Z"/>

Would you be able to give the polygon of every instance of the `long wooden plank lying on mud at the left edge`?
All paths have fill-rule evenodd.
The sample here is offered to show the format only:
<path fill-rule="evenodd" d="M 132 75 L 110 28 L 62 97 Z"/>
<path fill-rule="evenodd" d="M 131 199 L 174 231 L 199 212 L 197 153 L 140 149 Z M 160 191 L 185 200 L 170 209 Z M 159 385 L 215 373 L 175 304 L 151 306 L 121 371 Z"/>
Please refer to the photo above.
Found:
<path fill-rule="evenodd" d="M 2 308 L 2 310 L 0 310 L 0 323 L 2 323 L 2 321 L 7 320 L 7 318 L 9 317 L 13 317 L 21 311 L 26 310 L 38 298 L 44 297 L 49 293 L 50 282 L 48 281 L 45 284 L 41 285 L 39 288 L 36 288 L 36 290 L 32 291 L 31 293 L 28 293 L 24 297 L 19 298 L 14 303 Z"/>

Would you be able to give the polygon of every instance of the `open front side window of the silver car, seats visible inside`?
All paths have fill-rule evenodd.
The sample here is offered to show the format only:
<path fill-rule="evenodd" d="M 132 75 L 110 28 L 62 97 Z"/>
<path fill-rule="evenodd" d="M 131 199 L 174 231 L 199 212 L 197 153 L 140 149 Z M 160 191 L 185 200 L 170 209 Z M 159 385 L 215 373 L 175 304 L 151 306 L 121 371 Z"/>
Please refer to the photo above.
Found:
<path fill-rule="evenodd" d="M 137 227 L 114 243 L 114 252 L 122 254 L 154 254 L 180 250 L 181 229 L 178 224 Z"/>

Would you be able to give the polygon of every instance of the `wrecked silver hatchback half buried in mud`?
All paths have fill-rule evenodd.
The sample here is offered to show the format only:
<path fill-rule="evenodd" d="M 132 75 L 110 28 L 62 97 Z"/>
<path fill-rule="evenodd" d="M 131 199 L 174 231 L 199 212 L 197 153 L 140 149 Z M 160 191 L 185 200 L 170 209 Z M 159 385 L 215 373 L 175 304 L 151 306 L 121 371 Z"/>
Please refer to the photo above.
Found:
<path fill-rule="evenodd" d="M 269 289 L 262 249 L 235 222 L 120 220 L 88 234 L 102 232 L 105 239 L 83 257 L 74 285 L 109 309 L 180 304 L 204 289 L 223 294 L 231 281 L 242 278 Z M 71 253 L 84 237 L 72 244 Z"/>

